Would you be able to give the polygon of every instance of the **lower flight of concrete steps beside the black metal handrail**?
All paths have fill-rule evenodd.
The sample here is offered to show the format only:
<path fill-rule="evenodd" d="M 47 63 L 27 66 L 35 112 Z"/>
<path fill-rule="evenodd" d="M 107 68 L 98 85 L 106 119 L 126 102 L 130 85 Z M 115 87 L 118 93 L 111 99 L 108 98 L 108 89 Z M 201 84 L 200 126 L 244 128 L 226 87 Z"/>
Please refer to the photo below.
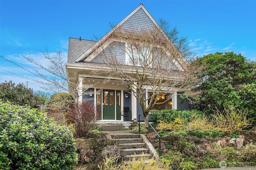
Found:
<path fill-rule="evenodd" d="M 140 134 L 124 133 L 110 134 L 110 136 L 112 140 L 116 141 L 116 143 L 124 150 L 124 159 L 126 161 L 132 160 L 133 158 L 137 160 L 142 156 L 148 159 L 153 157 L 153 154 L 150 153 L 150 149 L 147 148 L 146 143 L 141 138 Z"/>

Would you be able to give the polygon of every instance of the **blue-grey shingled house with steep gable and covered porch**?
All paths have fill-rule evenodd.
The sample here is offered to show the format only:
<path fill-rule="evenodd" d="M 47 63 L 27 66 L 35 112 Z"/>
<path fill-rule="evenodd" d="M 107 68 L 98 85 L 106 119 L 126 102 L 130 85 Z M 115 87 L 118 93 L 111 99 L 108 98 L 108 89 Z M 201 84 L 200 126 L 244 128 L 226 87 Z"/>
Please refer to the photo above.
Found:
<path fill-rule="evenodd" d="M 92 102 L 100 110 L 101 121 L 131 121 L 138 119 L 138 115 L 142 114 L 142 106 L 138 102 L 138 95 L 134 95 L 132 88 L 127 88 L 127 85 L 124 84 L 124 77 L 118 77 L 118 74 L 113 74 L 114 76 L 104 74 L 108 70 L 106 67 L 107 64 L 104 62 L 104 59 L 99 57 L 100 53 L 110 48 L 110 45 L 114 41 L 119 42 L 117 43 L 118 45 L 126 48 L 126 43 L 118 41 L 116 38 L 118 36 L 113 36 L 119 28 L 125 30 L 124 32 L 130 31 L 131 33 L 134 31 L 133 33 L 135 34 L 137 29 L 143 31 L 156 28 L 161 31 L 162 37 L 167 37 L 146 8 L 140 4 L 138 8 L 113 27 L 99 41 L 85 40 L 81 39 L 81 37 L 79 39 L 69 39 L 68 63 L 66 64 L 68 80 L 74 84 L 72 88 L 78 90 L 78 94 L 80 94 L 78 95 L 79 101 L 87 100 L 88 102 Z M 169 41 L 168 39 L 166 42 L 170 43 L 172 48 L 177 51 L 176 47 Z M 107 54 L 109 53 L 110 50 L 108 49 Z M 187 64 L 186 59 L 184 59 L 179 51 L 178 53 L 181 61 Z M 124 51 L 118 51 L 118 58 L 123 60 L 122 68 L 130 65 L 127 54 Z M 139 65 L 139 59 L 140 56 L 137 54 L 136 60 L 138 63 L 136 63 L 136 66 L 138 68 L 141 66 Z M 180 72 L 182 71 L 182 62 L 173 61 L 168 67 L 175 67 L 173 72 Z M 131 81 L 129 82 L 130 86 L 133 86 L 136 82 Z M 149 99 L 153 94 L 155 93 L 150 91 L 150 84 L 148 83 L 147 88 L 143 92 L 143 97 Z M 155 99 L 159 104 L 151 109 L 188 109 L 188 102 L 184 102 L 183 104 L 178 102 L 179 95 L 177 94 L 177 90 L 173 92 L 171 98 L 168 98 L 168 101 L 161 102 L 167 100 L 167 96 L 168 94 L 164 93 L 164 90 L 158 93 Z M 150 100 L 146 102 L 146 106 L 148 106 L 149 102 Z"/>

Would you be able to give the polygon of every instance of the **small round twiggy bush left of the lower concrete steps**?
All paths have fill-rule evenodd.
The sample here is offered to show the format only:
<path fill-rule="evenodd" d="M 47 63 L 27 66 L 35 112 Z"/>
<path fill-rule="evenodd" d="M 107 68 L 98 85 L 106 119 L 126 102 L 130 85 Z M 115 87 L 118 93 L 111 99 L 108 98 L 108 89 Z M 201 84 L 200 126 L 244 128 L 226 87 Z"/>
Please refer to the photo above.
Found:
<path fill-rule="evenodd" d="M 101 154 L 103 158 L 113 158 L 114 162 L 120 162 L 125 156 L 124 150 L 116 144 L 104 147 Z"/>

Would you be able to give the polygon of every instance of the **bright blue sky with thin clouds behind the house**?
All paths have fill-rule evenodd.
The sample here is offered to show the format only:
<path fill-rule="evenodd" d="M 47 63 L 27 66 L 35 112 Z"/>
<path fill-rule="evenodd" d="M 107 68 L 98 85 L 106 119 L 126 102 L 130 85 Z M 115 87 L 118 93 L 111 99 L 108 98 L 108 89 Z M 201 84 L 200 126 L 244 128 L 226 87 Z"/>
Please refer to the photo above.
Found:
<path fill-rule="evenodd" d="M 234 51 L 256 61 L 256 0 L 0 0 L 0 55 L 31 71 L 22 54 L 47 66 L 41 53 L 46 46 L 67 58 L 69 37 L 102 37 L 109 22 L 119 23 L 140 4 L 156 21 L 177 26 L 198 57 Z M 36 77 L 2 57 L 0 83 L 28 81 L 42 90 L 26 79 Z"/>

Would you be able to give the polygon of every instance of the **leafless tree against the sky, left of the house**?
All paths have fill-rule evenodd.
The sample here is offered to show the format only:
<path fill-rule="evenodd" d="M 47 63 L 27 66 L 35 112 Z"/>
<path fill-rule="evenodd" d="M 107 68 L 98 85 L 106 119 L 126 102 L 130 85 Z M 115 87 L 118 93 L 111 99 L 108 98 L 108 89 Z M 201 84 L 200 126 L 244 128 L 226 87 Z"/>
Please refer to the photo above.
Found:
<path fill-rule="evenodd" d="M 69 92 L 74 97 L 75 101 L 77 101 L 80 96 L 89 94 L 87 88 L 83 87 L 82 89 L 79 89 L 80 87 L 77 86 L 79 83 L 78 73 L 74 72 L 73 74 L 75 76 L 72 76 L 72 80 L 68 79 L 65 66 L 66 60 L 64 60 L 62 56 L 61 50 L 58 50 L 56 55 L 52 55 L 48 52 L 48 48 L 46 46 L 45 51 L 46 52 L 42 52 L 42 54 L 50 63 L 47 67 L 43 66 L 43 64 L 38 63 L 32 58 L 22 55 L 30 63 L 33 63 L 48 73 L 44 74 L 39 69 L 33 69 L 34 72 L 32 73 L 42 79 L 34 79 L 34 81 L 45 85 L 40 86 L 40 88 L 54 93 Z"/>

